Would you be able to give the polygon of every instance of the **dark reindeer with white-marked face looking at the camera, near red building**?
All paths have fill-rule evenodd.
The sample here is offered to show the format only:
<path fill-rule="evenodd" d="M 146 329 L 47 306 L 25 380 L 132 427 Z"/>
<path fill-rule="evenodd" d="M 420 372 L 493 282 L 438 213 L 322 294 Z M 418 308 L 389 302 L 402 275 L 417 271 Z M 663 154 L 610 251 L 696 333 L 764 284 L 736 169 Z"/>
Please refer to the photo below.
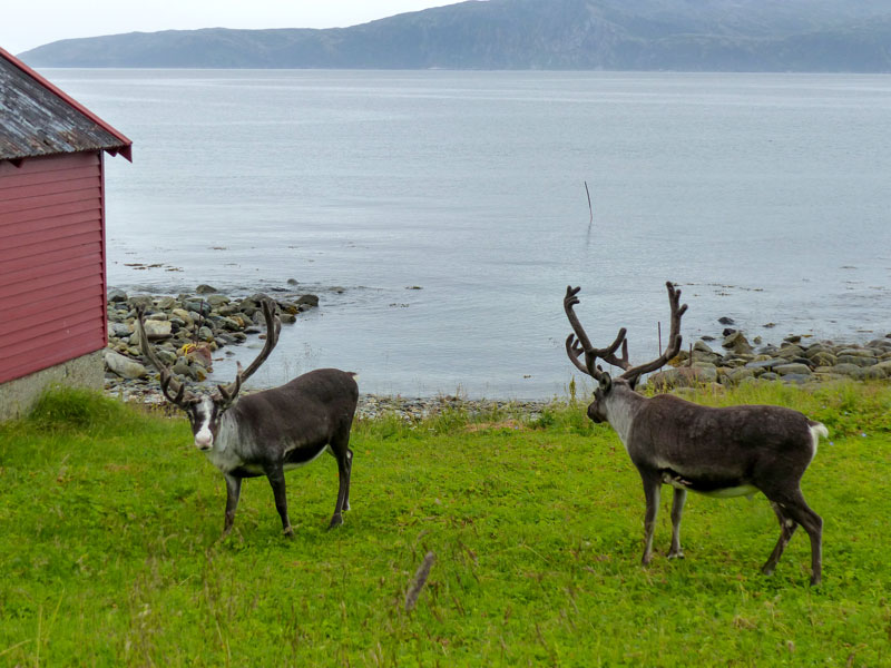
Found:
<path fill-rule="evenodd" d="M 229 533 L 242 491 L 242 480 L 265 475 L 272 485 L 275 508 L 285 536 L 294 530 L 287 517 L 285 471 L 307 464 L 325 450 L 337 460 L 340 489 L 329 529 L 343 523 L 341 512 L 350 510 L 350 473 L 353 451 L 350 428 L 359 387 L 355 374 L 337 369 L 317 369 L 278 387 L 238 397 L 242 384 L 260 369 L 278 343 L 281 321 L 274 316 L 272 299 L 262 302 L 266 342 L 251 365 L 237 365 L 235 381 L 217 385 L 213 395 L 194 394 L 177 381 L 158 358 L 144 326 L 144 310 L 137 308 L 139 341 L 146 357 L 160 372 L 164 396 L 188 415 L 195 448 L 204 452 L 226 480 L 226 519 L 223 536 Z"/>

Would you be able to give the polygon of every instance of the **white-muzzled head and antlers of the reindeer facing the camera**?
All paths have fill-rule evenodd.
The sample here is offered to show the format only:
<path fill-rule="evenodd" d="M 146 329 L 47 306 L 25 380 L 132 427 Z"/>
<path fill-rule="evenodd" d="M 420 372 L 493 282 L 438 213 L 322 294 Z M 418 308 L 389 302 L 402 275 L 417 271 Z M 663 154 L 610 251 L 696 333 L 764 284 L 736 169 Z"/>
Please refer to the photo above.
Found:
<path fill-rule="evenodd" d="M 213 394 L 196 394 L 186 389 L 185 382 L 179 382 L 174 377 L 173 372 L 158 358 L 148 342 L 144 326 L 144 308 L 139 306 L 136 310 L 143 353 L 160 372 L 160 390 L 164 396 L 188 416 L 192 433 L 195 436 L 195 446 L 198 450 L 207 451 L 214 446 L 223 414 L 235 404 L 242 383 L 261 367 L 275 344 L 278 343 L 282 322 L 275 316 L 275 303 L 268 298 L 263 299 L 262 308 L 263 317 L 266 321 L 266 343 L 263 350 L 246 370 L 242 369 L 238 363 L 235 381 L 229 385 L 217 385 L 217 392 Z"/>

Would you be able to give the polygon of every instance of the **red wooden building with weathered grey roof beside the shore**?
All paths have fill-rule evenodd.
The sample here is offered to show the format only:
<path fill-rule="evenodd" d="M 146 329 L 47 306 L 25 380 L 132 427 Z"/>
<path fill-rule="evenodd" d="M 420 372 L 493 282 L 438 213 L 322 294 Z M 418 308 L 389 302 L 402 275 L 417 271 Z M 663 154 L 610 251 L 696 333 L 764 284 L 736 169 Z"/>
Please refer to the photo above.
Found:
<path fill-rule="evenodd" d="M 0 419 L 27 407 L 10 381 L 43 370 L 65 380 L 72 374 L 65 365 L 85 355 L 101 377 L 104 154 L 129 160 L 130 149 L 127 137 L 0 49 Z"/>

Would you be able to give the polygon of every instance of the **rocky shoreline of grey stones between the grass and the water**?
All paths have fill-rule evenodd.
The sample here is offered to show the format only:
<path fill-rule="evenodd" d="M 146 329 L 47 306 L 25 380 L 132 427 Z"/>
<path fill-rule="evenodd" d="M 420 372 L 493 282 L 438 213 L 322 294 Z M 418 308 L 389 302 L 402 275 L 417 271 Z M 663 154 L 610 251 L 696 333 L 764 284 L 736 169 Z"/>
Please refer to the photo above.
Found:
<path fill-rule="evenodd" d="M 135 335 L 136 307 L 146 312 L 146 333 L 163 362 L 196 390 L 213 390 L 206 382 L 215 355 L 234 354 L 227 346 L 251 336 L 265 337 L 260 301 L 271 296 L 254 294 L 235 297 L 208 285 L 178 296 L 108 293 L 108 348 L 106 350 L 106 393 L 146 404 L 164 404 L 157 372 L 147 366 Z M 283 324 L 296 322 L 301 313 L 319 305 L 312 294 L 283 292 L 272 296 Z M 779 345 L 750 342 L 737 330 L 725 330 L 724 337 L 701 338 L 682 351 L 669 365 L 647 380 L 656 390 L 693 386 L 728 386 L 742 383 L 820 383 L 850 379 L 891 379 L 891 333 L 865 344 L 787 336 Z M 709 343 L 712 345 L 709 345 Z M 222 351 L 222 353 L 221 353 Z M 448 410 L 491 413 L 495 410 L 538 415 L 551 401 L 468 400 L 458 396 L 403 397 L 363 394 L 359 416 L 373 419 L 394 414 L 418 421 Z"/>

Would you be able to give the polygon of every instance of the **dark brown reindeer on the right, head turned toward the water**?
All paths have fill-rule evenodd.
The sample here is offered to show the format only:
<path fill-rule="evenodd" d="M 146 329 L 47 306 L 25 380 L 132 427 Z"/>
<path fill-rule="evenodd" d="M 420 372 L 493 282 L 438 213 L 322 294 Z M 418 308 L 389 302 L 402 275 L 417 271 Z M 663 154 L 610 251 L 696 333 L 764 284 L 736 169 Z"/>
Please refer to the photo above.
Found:
<path fill-rule="evenodd" d="M 656 360 L 631 366 L 625 327 L 605 348 L 595 348 L 572 311 L 580 287 L 568 286 L 564 310 L 574 334 L 566 340 L 569 360 L 598 383 L 588 418 L 608 422 L 637 466 L 644 483 L 646 514 L 643 564 L 653 559 L 653 531 L 663 484 L 674 488 L 672 547 L 668 559 L 683 558 L 681 514 L 687 491 L 726 498 L 763 492 L 780 520 L 780 540 L 762 568 L 773 573 L 799 524 L 811 539 L 811 584 L 821 580 L 823 520 L 804 501 L 801 478 L 816 454 L 826 428 L 791 409 L 741 405 L 723 409 L 701 406 L 677 396 L 646 397 L 635 392 L 645 373 L 656 371 L 681 351 L 681 291 L 666 283 L 672 308 L 668 346 Z M 621 357 L 616 351 L 621 346 Z M 582 363 L 580 357 L 585 355 Z M 621 369 L 617 379 L 597 365 L 597 360 Z"/>

